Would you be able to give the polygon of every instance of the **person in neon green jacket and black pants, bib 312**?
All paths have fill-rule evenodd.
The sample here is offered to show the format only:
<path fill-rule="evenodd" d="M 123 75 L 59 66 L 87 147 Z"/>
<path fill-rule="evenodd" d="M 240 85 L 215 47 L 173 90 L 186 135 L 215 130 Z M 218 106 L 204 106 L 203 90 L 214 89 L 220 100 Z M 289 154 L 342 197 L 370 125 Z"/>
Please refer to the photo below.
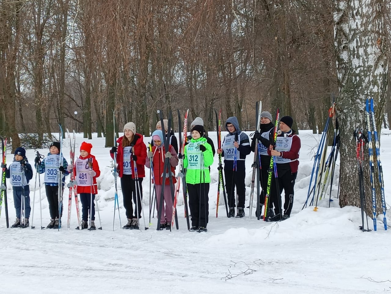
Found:
<path fill-rule="evenodd" d="M 189 207 L 192 215 L 190 231 L 207 231 L 209 214 L 209 169 L 213 163 L 212 146 L 203 137 L 204 128 L 195 125 L 192 139 L 185 146 L 183 167 L 186 170 L 186 184 L 189 195 Z"/>

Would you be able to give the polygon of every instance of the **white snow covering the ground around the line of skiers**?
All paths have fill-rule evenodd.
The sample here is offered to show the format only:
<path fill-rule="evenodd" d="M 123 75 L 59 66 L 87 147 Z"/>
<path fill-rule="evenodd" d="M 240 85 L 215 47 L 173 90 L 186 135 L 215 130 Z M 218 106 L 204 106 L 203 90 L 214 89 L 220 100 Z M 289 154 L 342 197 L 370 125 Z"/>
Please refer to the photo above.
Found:
<path fill-rule="evenodd" d="M 386 202 L 391 201 L 391 134 L 382 130 L 382 163 L 386 180 Z M 223 133 L 224 135 L 224 133 Z M 96 136 L 96 134 L 95 134 Z M 213 142 L 216 134 L 210 133 Z M 217 154 L 211 168 L 209 224 L 207 233 L 188 232 L 183 196 L 179 195 L 179 230 L 156 231 L 156 217 L 148 230 L 120 228 L 114 209 L 114 177 L 109 148 L 104 138 L 93 138 L 91 153 L 97 157 L 98 203 L 102 231 L 77 231 L 74 201 L 71 229 L 66 229 L 68 201 L 64 200 L 60 231 L 40 230 L 39 189 L 36 189 L 33 224 L 36 229 L 7 229 L 4 209 L 0 219 L 0 293 L 380 293 L 391 292 L 391 237 L 378 221 L 378 230 L 358 229 L 361 212 L 357 207 L 339 208 L 335 198 L 338 166 L 333 184 L 331 208 L 328 200 L 319 209 L 301 210 L 307 197 L 313 149 L 319 141 L 311 131 L 301 131 L 301 152 L 291 218 L 278 223 L 254 217 L 226 218 L 224 202 L 215 218 L 217 195 Z M 83 142 L 77 134 L 76 155 Z M 151 138 L 145 138 L 150 142 Z M 63 153 L 69 160 L 68 140 Z M 47 150 L 39 150 L 46 156 Z M 13 155 L 7 154 L 8 162 Z M 33 163 L 34 150 L 27 151 Z M 251 163 L 246 160 L 246 206 L 249 201 Z M 149 227 L 149 170 L 143 181 L 143 204 Z M 31 205 L 34 179 L 30 181 Z M 43 176 L 41 176 L 43 181 Z M 38 185 L 38 184 L 37 184 Z M 12 187 L 8 185 L 10 222 L 14 221 Z M 126 222 L 118 184 L 122 225 Z M 66 189 L 64 195 L 68 195 Z M 65 198 L 66 198 L 65 196 Z M 328 195 L 326 196 L 328 199 Z M 43 226 L 50 220 L 45 188 L 41 187 Z M 254 201 L 255 207 L 256 200 Z M 387 204 L 387 207 L 388 204 Z M 255 209 L 253 209 L 253 214 Z M 156 215 L 156 213 L 155 213 Z M 387 215 L 390 217 L 390 215 Z M 96 215 L 97 217 L 97 215 Z M 381 220 L 379 217 L 378 220 Z M 30 217 L 30 225 L 31 225 Z M 98 223 L 98 219 L 96 219 Z M 391 220 L 389 221 L 391 222 Z M 142 227 L 140 220 L 140 227 Z M 369 228 L 373 223 L 369 219 Z"/>

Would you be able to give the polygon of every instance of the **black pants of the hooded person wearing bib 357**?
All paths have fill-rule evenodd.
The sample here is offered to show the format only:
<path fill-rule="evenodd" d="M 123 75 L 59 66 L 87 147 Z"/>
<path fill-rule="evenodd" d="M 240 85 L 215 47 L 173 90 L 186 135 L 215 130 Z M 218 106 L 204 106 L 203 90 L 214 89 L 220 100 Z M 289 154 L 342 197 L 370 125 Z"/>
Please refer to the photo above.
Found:
<path fill-rule="evenodd" d="M 225 190 L 228 197 L 228 207 L 236 207 L 235 205 L 235 186 L 236 193 L 238 195 L 238 207 L 244 208 L 244 202 L 246 201 L 246 185 L 244 184 L 244 178 L 246 172 L 244 170 L 233 171 L 230 169 L 224 169 L 225 176 Z"/>

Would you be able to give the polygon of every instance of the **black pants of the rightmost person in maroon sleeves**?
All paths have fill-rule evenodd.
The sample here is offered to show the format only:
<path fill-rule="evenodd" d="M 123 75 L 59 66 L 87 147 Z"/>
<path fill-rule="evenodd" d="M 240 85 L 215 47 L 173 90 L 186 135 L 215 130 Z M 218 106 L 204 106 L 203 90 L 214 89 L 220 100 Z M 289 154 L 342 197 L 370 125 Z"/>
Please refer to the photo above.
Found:
<path fill-rule="evenodd" d="M 277 185 L 278 191 L 275 192 L 276 189 L 276 181 L 273 177 L 272 180 L 272 188 L 271 192 L 271 203 L 274 204 L 274 212 L 280 213 L 280 202 L 281 202 L 281 193 L 284 190 L 285 201 L 284 201 L 284 211 L 283 214 L 291 215 L 292 206 L 293 206 L 293 195 L 294 195 L 294 184 L 296 180 L 297 172 L 292 173 L 290 170 L 284 172 L 282 175 L 278 174 Z M 274 186 L 274 187 L 273 187 Z M 271 206 L 269 206 L 271 207 Z"/>

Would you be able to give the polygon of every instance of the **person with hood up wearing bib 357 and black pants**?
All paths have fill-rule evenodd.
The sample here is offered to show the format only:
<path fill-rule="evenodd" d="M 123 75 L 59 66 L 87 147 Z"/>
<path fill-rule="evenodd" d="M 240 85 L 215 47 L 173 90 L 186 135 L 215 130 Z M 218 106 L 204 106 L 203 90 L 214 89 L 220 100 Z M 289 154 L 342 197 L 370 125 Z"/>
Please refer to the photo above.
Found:
<path fill-rule="evenodd" d="M 246 156 L 251 152 L 250 140 L 247 134 L 240 131 L 239 122 L 236 117 L 230 117 L 225 122 L 228 134 L 224 137 L 222 148 L 217 154 L 224 157 L 224 176 L 226 191 L 228 195 L 228 206 L 230 211 L 228 217 L 235 216 L 237 206 L 237 217 L 244 217 L 244 202 L 246 200 Z M 235 204 L 235 186 L 238 195 L 237 205 Z"/>

